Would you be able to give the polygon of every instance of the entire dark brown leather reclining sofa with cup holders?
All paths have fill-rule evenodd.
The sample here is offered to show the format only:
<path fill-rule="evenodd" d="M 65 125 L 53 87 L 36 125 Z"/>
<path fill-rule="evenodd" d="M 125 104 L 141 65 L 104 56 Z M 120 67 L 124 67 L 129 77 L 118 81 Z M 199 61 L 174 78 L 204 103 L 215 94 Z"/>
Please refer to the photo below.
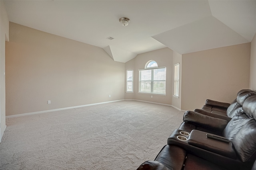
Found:
<path fill-rule="evenodd" d="M 184 113 L 155 160 L 138 170 L 256 170 L 255 118 L 252 90 L 240 90 L 231 104 L 206 100 Z"/>

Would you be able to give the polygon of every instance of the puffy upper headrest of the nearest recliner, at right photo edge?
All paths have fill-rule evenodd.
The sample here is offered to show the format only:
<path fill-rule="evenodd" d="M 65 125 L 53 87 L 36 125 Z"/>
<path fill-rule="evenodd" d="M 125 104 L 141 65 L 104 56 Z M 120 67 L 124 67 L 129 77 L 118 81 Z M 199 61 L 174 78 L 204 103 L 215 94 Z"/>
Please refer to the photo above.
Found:
<path fill-rule="evenodd" d="M 242 108 L 249 117 L 256 118 L 256 96 L 247 98 Z"/>

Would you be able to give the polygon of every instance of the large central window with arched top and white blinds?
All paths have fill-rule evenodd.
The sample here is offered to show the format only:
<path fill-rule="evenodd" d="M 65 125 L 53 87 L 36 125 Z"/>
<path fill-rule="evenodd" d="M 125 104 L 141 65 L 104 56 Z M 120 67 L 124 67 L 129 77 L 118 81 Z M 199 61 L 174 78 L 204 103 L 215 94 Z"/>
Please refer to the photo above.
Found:
<path fill-rule="evenodd" d="M 145 69 L 139 70 L 139 92 L 166 94 L 166 67 L 158 67 L 155 61 L 149 61 Z"/>

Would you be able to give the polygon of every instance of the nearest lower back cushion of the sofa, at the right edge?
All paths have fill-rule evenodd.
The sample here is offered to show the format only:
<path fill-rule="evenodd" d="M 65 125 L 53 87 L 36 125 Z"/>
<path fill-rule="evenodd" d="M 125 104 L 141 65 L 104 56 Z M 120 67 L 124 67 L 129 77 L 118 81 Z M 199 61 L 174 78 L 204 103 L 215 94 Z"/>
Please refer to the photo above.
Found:
<path fill-rule="evenodd" d="M 250 119 L 232 140 L 242 162 L 253 161 L 256 156 L 256 121 Z"/>

